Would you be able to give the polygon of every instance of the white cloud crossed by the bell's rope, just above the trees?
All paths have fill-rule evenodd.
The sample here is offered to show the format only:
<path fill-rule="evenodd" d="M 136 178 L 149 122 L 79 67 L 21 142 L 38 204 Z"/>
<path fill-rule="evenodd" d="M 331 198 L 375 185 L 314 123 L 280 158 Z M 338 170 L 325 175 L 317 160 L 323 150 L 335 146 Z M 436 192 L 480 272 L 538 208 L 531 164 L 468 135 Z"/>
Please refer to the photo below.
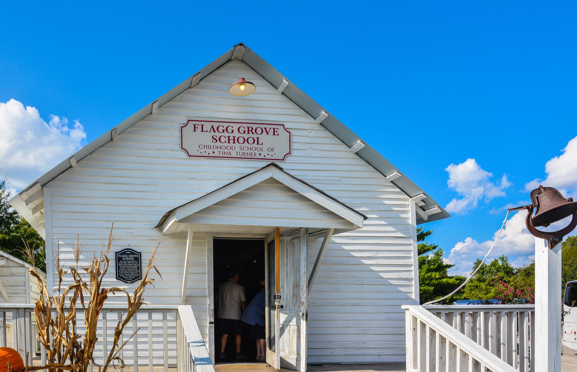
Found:
<path fill-rule="evenodd" d="M 535 253 L 535 238 L 525 227 L 526 216 L 526 211 L 520 211 L 507 220 L 499 241 L 485 262 L 490 262 L 502 254 L 507 255 L 518 266 L 531 260 L 530 256 Z M 495 231 L 492 239 L 482 243 L 470 237 L 456 243 L 447 257 L 447 262 L 455 265 L 449 270 L 451 274 L 468 275 L 473 269 L 475 260 L 485 257 L 498 233 L 499 230 Z"/>

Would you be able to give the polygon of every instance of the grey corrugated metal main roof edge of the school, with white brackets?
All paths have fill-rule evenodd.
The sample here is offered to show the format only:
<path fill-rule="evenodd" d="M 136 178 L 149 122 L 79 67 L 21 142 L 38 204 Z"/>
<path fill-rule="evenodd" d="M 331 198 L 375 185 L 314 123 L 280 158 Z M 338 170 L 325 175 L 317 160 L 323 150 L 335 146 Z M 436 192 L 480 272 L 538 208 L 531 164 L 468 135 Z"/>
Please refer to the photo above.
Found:
<path fill-rule="evenodd" d="M 159 97 L 158 100 L 155 100 L 154 102 L 141 108 L 141 110 L 137 111 L 128 119 L 119 123 L 110 131 L 107 131 L 102 136 L 92 141 L 90 144 L 78 150 L 72 157 L 70 157 L 70 159 L 62 161 L 62 163 L 46 172 L 46 174 L 40 176 L 38 180 L 31 183 L 31 185 L 26 187 L 20 194 L 17 194 L 10 201 L 10 204 L 14 206 L 18 212 L 24 214 L 25 211 L 20 211 L 19 209 L 21 208 L 22 202 L 15 201 L 15 198 L 21 198 L 25 204 L 28 204 L 27 200 L 30 198 L 30 196 L 27 191 L 29 189 L 32 189 L 33 187 L 38 188 L 38 186 L 43 187 L 58 175 L 62 174 L 62 172 L 72 167 L 72 164 L 76 165 L 77 161 L 84 159 L 92 152 L 95 152 L 109 141 L 118 137 L 118 135 L 123 131 L 129 129 L 134 124 L 146 118 L 153 112 L 156 112 L 156 110 L 162 107 L 163 104 L 169 102 L 180 93 L 186 91 L 186 89 L 194 87 L 203 78 L 207 77 L 209 74 L 219 69 L 227 62 L 232 61 L 233 59 L 238 59 L 253 69 L 254 72 L 262 76 L 264 80 L 268 81 L 269 84 L 275 87 L 280 93 L 282 93 L 294 104 L 304 110 L 307 114 L 310 115 L 310 117 L 314 118 L 316 122 L 320 123 L 320 125 L 325 127 L 325 129 L 331 132 L 336 138 L 342 141 L 345 145 L 349 146 L 349 148 L 354 148 L 355 153 L 357 153 L 361 159 L 365 160 L 375 170 L 379 171 L 380 174 L 385 176 L 385 178 L 388 178 L 389 181 L 394 183 L 395 186 L 399 187 L 399 189 L 407 194 L 407 196 L 410 198 L 415 198 L 418 205 L 418 224 L 441 220 L 451 216 L 436 201 L 434 201 L 433 198 L 428 196 L 425 191 L 421 189 L 421 187 L 417 186 L 406 175 L 401 174 L 398 168 L 389 163 L 389 161 L 380 155 L 380 153 L 378 153 L 365 141 L 361 140 L 357 134 L 355 134 L 337 118 L 331 115 L 327 110 L 325 110 L 325 108 L 321 107 L 320 104 L 315 102 L 311 97 L 306 95 L 305 92 L 301 91 L 301 89 L 299 89 L 296 85 L 291 83 L 290 80 L 283 76 L 283 74 L 269 65 L 267 61 L 258 56 L 254 51 L 242 43 L 235 45 L 222 56 L 215 59 L 215 61 L 212 61 L 209 63 L 209 65 L 205 66 L 199 72 L 181 82 L 170 91 L 164 93 L 164 95 Z M 34 221 L 28 222 L 31 223 L 32 226 L 36 228 L 36 230 L 38 230 L 36 226 L 38 224 L 33 223 Z"/>

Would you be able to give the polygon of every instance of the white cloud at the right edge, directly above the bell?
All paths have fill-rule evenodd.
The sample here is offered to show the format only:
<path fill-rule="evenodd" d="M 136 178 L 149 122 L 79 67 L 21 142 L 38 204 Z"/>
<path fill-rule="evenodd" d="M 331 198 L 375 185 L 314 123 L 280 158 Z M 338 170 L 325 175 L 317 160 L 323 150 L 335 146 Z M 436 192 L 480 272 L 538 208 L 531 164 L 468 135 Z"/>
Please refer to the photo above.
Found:
<path fill-rule="evenodd" d="M 559 156 L 553 157 L 545 163 L 545 179 L 534 179 L 525 185 L 526 191 L 536 189 L 541 183 L 543 186 L 555 187 L 565 197 L 577 194 L 577 137 L 567 143 Z M 565 195 L 567 194 L 567 195 Z"/>

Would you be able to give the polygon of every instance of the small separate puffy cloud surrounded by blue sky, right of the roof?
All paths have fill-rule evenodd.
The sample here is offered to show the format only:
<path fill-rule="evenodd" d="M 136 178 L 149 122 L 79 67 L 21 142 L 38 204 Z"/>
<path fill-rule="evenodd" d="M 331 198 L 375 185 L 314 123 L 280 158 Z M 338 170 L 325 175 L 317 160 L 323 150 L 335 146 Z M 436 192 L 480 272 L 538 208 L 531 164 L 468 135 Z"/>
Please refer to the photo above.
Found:
<path fill-rule="evenodd" d="M 458 165 L 451 164 L 445 171 L 449 173 L 447 185 L 461 197 L 454 198 L 445 206 L 448 212 L 466 213 L 475 208 L 479 200 L 489 201 L 505 196 L 504 189 L 511 185 L 505 174 L 499 185 L 490 181 L 493 174 L 482 169 L 475 159 L 467 159 Z"/>

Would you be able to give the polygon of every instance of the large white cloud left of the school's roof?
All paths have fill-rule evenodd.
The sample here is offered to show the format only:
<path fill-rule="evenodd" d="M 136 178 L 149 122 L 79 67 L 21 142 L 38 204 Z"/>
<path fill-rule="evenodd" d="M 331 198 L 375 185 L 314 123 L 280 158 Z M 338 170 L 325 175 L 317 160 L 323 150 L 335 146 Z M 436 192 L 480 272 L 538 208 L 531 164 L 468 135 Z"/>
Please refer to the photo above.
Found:
<path fill-rule="evenodd" d="M 44 172 L 76 152 L 86 139 L 77 120 L 50 115 L 40 118 L 35 107 L 15 99 L 0 102 L 0 168 L 12 185 L 21 190 Z"/>

